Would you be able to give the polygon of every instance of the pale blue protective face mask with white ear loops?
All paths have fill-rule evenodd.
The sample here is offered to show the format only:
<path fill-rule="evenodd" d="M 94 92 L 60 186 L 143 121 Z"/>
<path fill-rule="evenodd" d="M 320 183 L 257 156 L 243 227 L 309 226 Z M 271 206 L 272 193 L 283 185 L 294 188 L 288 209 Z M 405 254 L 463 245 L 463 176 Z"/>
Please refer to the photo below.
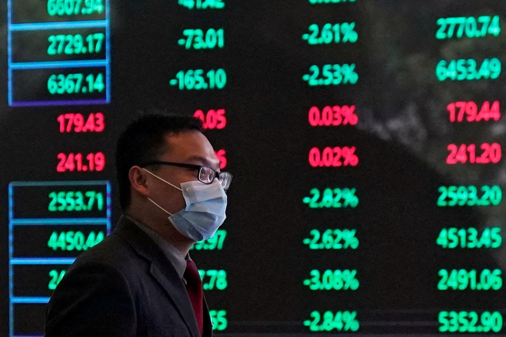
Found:
<path fill-rule="evenodd" d="M 171 185 L 183 192 L 186 208 L 172 214 L 159 204 L 151 200 L 163 212 L 170 215 L 168 220 L 184 236 L 194 240 L 207 240 L 215 235 L 218 228 L 223 224 L 227 216 L 227 194 L 218 179 L 211 184 L 204 184 L 198 180 L 181 183 L 181 188 L 145 170 L 150 175 L 162 182 Z"/>

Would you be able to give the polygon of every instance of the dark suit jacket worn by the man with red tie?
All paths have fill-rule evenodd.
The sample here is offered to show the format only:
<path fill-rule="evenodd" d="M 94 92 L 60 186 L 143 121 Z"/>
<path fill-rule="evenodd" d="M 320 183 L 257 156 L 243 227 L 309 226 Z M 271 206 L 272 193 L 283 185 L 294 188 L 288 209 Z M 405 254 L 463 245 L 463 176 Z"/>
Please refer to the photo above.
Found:
<path fill-rule="evenodd" d="M 160 247 L 124 217 L 81 254 L 51 297 L 46 337 L 198 337 L 184 282 Z M 204 335 L 213 336 L 204 301 Z"/>

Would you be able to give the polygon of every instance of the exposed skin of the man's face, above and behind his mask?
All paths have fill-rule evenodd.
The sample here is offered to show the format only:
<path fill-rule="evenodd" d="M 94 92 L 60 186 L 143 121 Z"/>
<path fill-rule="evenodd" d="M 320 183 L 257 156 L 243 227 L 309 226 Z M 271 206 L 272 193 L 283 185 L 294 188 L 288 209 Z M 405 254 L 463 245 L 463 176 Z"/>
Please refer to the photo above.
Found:
<path fill-rule="evenodd" d="M 213 146 L 202 133 L 196 130 L 183 131 L 178 134 L 165 136 L 167 150 L 157 158 L 159 161 L 170 161 L 185 164 L 209 166 L 220 171 L 220 162 L 216 157 Z M 156 170 L 146 168 L 158 177 L 175 186 L 181 183 L 197 180 L 198 170 L 169 165 L 160 165 Z M 146 183 L 150 197 L 168 212 L 175 214 L 186 207 L 185 199 L 180 190 L 165 184 L 156 177 L 146 173 Z M 166 214 L 161 213 L 161 216 Z"/>

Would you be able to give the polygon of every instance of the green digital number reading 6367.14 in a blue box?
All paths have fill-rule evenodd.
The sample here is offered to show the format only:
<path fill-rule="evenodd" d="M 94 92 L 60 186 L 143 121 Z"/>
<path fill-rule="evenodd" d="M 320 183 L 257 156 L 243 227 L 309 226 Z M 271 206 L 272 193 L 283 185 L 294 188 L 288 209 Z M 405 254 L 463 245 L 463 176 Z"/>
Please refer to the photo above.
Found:
<path fill-rule="evenodd" d="M 87 85 L 83 85 L 83 79 Z M 104 89 L 102 73 L 96 76 L 89 74 L 86 78 L 84 74 L 53 74 L 48 79 L 48 91 L 51 95 L 102 93 Z"/>

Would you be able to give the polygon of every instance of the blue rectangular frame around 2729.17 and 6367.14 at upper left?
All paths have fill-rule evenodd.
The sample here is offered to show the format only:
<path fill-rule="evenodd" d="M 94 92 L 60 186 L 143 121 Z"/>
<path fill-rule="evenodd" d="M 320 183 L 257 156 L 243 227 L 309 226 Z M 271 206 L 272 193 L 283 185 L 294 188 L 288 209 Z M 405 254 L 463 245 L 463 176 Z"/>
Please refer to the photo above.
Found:
<path fill-rule="evenodd" d="M 105 20 L 95 20 L 95 21 L 73 21 L 72 24 L 75 26 L 75 22 L 84 24 L 85 22 L 95 22 L 100 23 L 100 25 L 96 25 L 95 27 L 103 27 L 103 23 L 105 23 L 106 27 L 106 95 L 105 95 L 105 102 L 93 102 L 94 100 L 91 100 L 90 103 L 84 100 L 75 100 L 73 103 L 69 103 L 69 101 L 62 101 L 61 103 L 56 103 L 58 101 L 55 101 L 54 104 L 53 101 L 33 101 L 32 104 L 26 104 L 26 105 L 16 105 L 13 100 L 13 88 L 12 88 L 12 26 L 18 25 L 12 23 L 12 0 L 7 0 L 7 62 L 8 62 L 8 85 L 7 85 L 7 101 L 10 107 L 16 107 L 16 106 L 61 106 L 61 105 L 80 105 L 80 104 L 109 104 L 111 102 L 111 19 L 110 19 L 110 2 L 109 0 L 105 0 Z M 59 22 L 58 24 L 61 24 Z M 26 25 L 26 24 L 24 24 Z M 29 24 L 33 25 L 33 24 Z M 75 27 L 77 28 L 77 27 Z M 82 28 L 82 27 L 81 27 Z M 18 26 L 19 30 L 19 26 Z M 40 104 L 37 104 L 40 103 Z"/>

